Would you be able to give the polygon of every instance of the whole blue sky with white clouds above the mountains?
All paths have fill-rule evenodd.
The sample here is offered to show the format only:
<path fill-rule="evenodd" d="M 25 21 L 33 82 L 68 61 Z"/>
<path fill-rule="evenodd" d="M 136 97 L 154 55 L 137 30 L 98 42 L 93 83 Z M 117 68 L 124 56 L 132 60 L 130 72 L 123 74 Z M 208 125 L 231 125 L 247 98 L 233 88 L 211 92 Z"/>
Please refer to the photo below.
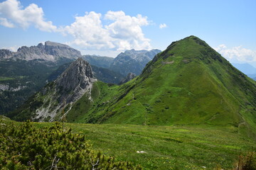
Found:
<path fill-rule="evenodd" d="M 255 0 L 0 0 L 0 49 L 50 40 L 116 57 L 195 35 L 230 62 L 256 67 L 255 9 Z"/>

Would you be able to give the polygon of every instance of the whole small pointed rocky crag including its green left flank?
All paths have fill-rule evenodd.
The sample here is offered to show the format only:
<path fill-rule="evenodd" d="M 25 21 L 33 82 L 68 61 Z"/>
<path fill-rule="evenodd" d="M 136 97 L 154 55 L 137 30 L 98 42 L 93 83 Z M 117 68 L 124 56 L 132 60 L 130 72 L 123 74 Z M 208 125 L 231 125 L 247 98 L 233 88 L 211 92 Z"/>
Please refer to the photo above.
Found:
<path fill-rule="evenodd" d="M 58 120 L 63 116 L 62 112 L 68 113 L 81 96 L 86 95 L 88 100 L 92 100 L 91 90 L 95 81 L 90 64 L 78 58 L 58 79 L 47 84 L 9 116 L 15 120 Z"/>

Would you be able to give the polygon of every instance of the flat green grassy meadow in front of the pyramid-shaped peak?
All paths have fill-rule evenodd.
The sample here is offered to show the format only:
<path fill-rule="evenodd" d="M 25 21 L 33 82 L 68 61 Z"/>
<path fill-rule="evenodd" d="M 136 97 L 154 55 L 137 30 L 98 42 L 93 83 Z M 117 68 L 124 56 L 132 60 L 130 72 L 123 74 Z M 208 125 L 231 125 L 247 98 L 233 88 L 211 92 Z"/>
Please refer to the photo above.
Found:
<path fill-rule="evenodd" d="M 40 128 L 51 123 L 34 125 Z M 84 134 L 93 149 L 144 169 L 234 169 L 239 155 L 256 147 L 233 126 L 65 123 L 65 128 L 70 127 Z"/>

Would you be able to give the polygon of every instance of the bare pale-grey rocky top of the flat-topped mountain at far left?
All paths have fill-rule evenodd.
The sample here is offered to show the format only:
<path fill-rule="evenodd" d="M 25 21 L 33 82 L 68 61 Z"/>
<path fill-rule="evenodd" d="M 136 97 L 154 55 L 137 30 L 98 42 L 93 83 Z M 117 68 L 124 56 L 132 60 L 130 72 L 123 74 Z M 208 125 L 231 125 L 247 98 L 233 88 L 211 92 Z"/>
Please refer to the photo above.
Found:
<path fill-rule="evenodd" d="M 80 51 L 57 42 L 46 41 L 45 45 L 19 47 L 17 52 L 0 50 L 0 60 L 46 60 L 57 61 L 61 59 L 75 60 L 82 57 Z"/>

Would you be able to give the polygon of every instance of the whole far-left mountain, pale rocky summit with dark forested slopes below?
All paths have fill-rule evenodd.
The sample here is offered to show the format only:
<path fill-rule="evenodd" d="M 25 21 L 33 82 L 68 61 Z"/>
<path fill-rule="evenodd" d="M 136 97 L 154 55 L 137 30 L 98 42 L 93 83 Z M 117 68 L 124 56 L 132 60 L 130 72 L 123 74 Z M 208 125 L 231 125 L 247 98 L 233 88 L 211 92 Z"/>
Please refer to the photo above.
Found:
<path fill-rule="evenodd" d="M 46 85 L 55 69 L 78 57 L 82 57 L 78 50 L 50 41 L 17 52 L 0 50 L 0 114 L 20 106 Z"/>

